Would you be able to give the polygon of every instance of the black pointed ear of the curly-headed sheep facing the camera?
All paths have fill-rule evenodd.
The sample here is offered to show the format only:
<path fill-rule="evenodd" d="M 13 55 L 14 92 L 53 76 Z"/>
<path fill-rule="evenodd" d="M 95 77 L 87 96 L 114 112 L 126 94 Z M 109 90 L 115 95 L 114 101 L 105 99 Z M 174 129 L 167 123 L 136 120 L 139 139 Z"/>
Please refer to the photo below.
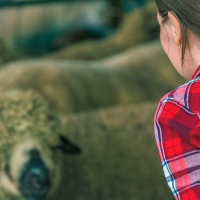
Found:
<path fill-rule="evenodd" d="M 60 135 L 59 137 L 61 144 L 57 148 L 62 150 L 64 153 L 77 154 L 81 152 L 81 149 L 71 143 L 66 137 L 64 137 L 63 135 Z"/>

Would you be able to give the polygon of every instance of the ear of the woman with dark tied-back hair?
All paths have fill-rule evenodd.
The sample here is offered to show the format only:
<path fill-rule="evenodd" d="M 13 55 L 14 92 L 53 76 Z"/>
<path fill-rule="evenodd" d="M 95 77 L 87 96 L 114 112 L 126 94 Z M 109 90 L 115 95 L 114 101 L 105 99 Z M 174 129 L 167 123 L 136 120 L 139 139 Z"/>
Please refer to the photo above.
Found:
<path fill-rule="evenodd" d="M 180 22 L 179 22 L 177 16 L 172 12 L 168 12 L 168 19 L 171 24 L 171 30 L 172 30 L 172 34 L 174 36 L 174 41 L 178 46 L 180 46 L 181 39 L 182 39 Z"/>

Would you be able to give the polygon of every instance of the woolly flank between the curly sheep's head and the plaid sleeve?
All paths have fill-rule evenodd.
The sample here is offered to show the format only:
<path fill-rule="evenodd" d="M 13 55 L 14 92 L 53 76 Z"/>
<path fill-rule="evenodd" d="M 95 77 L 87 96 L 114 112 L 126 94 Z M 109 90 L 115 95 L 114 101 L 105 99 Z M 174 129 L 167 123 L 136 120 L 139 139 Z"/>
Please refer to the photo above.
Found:
<path fill-rule="evenodd" d="M 62 115 L 68 138 L 83 148 L 64 158 L 51 200 L 173 200 L 153 134 L 156 103 Z"/>

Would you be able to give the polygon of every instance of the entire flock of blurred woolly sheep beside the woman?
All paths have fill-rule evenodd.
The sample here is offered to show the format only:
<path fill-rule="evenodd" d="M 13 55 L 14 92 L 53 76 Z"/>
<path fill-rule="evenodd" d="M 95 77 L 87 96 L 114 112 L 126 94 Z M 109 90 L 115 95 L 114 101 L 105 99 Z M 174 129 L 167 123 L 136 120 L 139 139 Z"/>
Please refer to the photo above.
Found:
<path fill-rule="evenodd" d="M 0 199 L 173 199 L 153 116 L 184 80 L 158 29 L 150 3 L 110 38 L 43 58 L 2 57 Z"/>

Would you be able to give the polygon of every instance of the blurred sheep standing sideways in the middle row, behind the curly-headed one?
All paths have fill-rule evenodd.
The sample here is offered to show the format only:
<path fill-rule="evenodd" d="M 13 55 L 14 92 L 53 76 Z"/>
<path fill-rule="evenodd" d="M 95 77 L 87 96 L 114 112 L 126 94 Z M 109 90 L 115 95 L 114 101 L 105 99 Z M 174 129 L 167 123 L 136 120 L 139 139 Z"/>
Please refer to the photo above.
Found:
<path fill-rule="evenodd" d="M 126 55 L 136 55 L 135 61 L 123 61 Z M 159 41 L 118 57 L 122 60 L 120 66 L 114 58 L 102 62 L 51 59 L 14 62 L 0 70 L 0 94 L 11 88 L 34 89 L 57 111 L 70 113 L 147 99 L 158 101 L 183 81 Z"/>

